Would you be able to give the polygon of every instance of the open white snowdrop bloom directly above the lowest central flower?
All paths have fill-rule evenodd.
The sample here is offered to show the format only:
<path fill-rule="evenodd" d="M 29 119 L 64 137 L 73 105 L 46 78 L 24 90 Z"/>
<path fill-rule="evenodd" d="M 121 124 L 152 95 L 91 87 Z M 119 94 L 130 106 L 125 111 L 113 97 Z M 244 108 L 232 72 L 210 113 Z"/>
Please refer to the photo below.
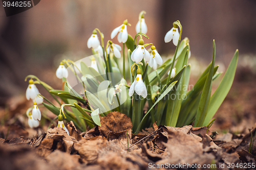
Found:
<path fill-rule="evenodd" d="M 143 57 L 144 60 L 149 62 L 150 61 L 150 53 L 148 53 L 147 50 L 145 50 L 145 47 L 143 46 L 144 40 L 140 39 L 139 40 L 139 45 L 136 47 L 136 49 L 132 53 L 132 60 L 136 63 L 140 62 Z"/>

